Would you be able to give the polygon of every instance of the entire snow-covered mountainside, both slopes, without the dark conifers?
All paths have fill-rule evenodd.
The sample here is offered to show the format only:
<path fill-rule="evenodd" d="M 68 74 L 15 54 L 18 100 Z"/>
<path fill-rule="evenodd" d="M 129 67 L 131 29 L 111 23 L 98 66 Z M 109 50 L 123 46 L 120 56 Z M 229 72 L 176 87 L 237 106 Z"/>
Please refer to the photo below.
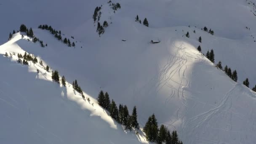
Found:
<path fill-rule="evenodd" d="M 242 84 L 246 77 L 250 80 L 250 88 L 256 84 L 253 2 L 112 1 L 117 2 L 121 8 L 114 13 L 105 0 L 75 0 L 72 3 L 70 0 L 3 1 L 0 16 L 4 29 L 0 43 L 5 43 L 8 33 L 24 23 L 31 26 L 35 36 L 48 46 L 42 48 L 39 43 L 21 39 L 18 33 L 0 46 L 0 53 L 27 51 L 40 57 L 52 69 L 58 69 L 67 82 L 77 79 L 92 99 L 103 89 L 118 104 L 127 104 L 130 111 L 136 105 L 142 127 L 147 117 L 155 113 L 160 124 L 177 130 L 184 144 L 256 143 L 256 93 Z M 96 32 L 97 23 L 92 19 L 96 6 L 101 6 L 99 22 L 109 24 L 100 37 Z M 12 11 L 7 13 L 10 9 Z M 136 22 L 136 15 L 141 21 L 147 18 L 149 27 Z M 61 30 L 65 34 L 63 37 L 75 42 L 75 48 L 64 45 L 46 30 L 37 29 L 40 24 Z M 214 35 L 201 30 L 205 26 L 214 30 Z M 185 36 L 187 32 L 189 38 Z M 200 36 L 202 43 L 198 42 Z M 151 44 L 151 40 L 160 43 Z M 222 61 L 223 67 L 227 64 L 232 70 L 236 69 L 238 82 L 198 52 L 198 45 L 202 53 L 214 50 L 215 63 Z M 23 143 L 35 143 L 39 139 L 43 139 L 41 143 L 146 142 L 143 138 L 137 139 L 133 133 L 125 134 L 120 125 L 103 113 L 96 101 L 96 108 L 82 104 L 80 96 L 76 98 L 73 91 L 65 96 L 64 88 L 50 83 L 50 74 L 43 77 L 31 73 L 36 71 L 33 64 L 27 70 L 6 58 L 1 58 L 0 63 L 4 69 L 0 112 L 4 115 L 1 122 L 6 124 L 0 133 L 6 143 L 17 142 L 10 138 L 13 133 L 7 132 L 10 127 L 13 128 L 11 132 L 15 129 L 16 136 L 24 134 L 19 137 Z M 24 85 L 24 81 L 28 85 Z M 15 91 L 11 91 L 13 87 Z M 66 91 L 68 93 L 70 89 Z M 45 105 L 50 106 L 45 108 Z M 43 115 L 38 115 L 40 113 Z M 53 117 L 53 121 L 48 123 L 49 117 Z M 58 124 L 60 119 L 63 123 Z M 70 126 L 62 128 L 66 125 Z M 21 127 L 20 131 L 17 127 Z M 65 133 L 69 129 L 73 132 Z M 53 134 L 48 135 L 48 132 Z M 95 139 L 101 133 L 104 138 Z M 115 134 L 119 136 L 114 137 Z"/>

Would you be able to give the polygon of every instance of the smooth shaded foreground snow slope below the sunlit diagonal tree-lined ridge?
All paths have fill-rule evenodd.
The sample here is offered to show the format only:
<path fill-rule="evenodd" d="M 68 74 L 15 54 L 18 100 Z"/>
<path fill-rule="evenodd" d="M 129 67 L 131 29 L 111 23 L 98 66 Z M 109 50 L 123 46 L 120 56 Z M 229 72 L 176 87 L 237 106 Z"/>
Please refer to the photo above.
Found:
<path fill-rule="evenodd" d="M 144 135 L 124 132 L 99 107 L 97 101 L 84 101 L 72 85 L 59 86 L 51 73 L 38 63 L 18 64 L 16 45 L 21 35 L 2 45 L 16 53 L 12 59 L 0 56 L 0 141 L 3 144 L 140 144 Z M 27 40 L 21 40 L 27 43 Z M 29 44 L 28 44 L 29 45 Z M 39 69 L 37 74 L 36 69 Z M 45 73 L 45 75 L 44 75 Z"/>

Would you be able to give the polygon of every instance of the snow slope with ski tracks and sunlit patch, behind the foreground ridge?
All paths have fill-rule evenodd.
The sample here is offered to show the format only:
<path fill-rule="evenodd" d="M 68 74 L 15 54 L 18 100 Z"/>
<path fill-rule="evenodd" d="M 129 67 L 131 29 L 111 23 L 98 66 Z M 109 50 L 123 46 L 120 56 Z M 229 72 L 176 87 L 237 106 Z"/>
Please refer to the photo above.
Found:
<path fill-rule="evenodd" d="M 76 0 L 75 12 L 66 2 L 68 0 L 61 5 L 67 7 L 73 21 L 66 23 L 65 14 L 56 21 L 52 18 L 57 16 L 52 12 L 54 10 L 45 10 L 42 6 L 38 11 L 43 11 L 42 15 L 52 12 L 52 17 L 25 18 L 25 24 L 33 28 L 43 23 L 51 24 L 69 33 L 66 35 L 69 38 L 74 35 L 76 48 L 67 47 L 48 31 L 39 29 L 34 29 L 35 35 L 48 47 L 41 48 L 38 43 L 26 40 L 18 40 L 14 45 L 40 56 L 65 75 L 67 81 L 77 79 L 81 88 L 94 98 L 103 89 L 117 103 L 127 104 L 129 110 L 136 105 L 142 126 L 154 112 L 159 123 L 167 125 L 170 130 L 176 129 L 186 144 L 256 142 L 253 135 L 256 132 L 256 115 L 253 113 L 256 95 L 241 84 L 246 77 L 251 82 L 250 87 L 256 83 L 255 68 L 252 67 L 256 53 L 256 38 L 253 38 L 256 17 L 245 1 L 117 0 L 121 9 L 115 13 L 107 1 L 88 1 L 85 4 Z M 45 0 L 35 4 L 41 3 L 50 2 Z M 59 4 L 56 1 L 53 5 L 56 3 Z M 101 4 L 101 24 L 107 20 L 109 27 L 99 37 L 91 16 L 94 8 Z M 18 5 L 15 11 L 20 8 Z M 29 13 L 22 12 L 13 14 L 13 17 Z M 147 17 L 149 27 L 134 21 L 137 14 L 142 21 Z M 9 23 L 4 21 L 3 24 L 7 27 Z M 19 27 L 19 24 L 17 19 L 11 20 L 13 27 Z M 213 29 L 215 35 L 203 32 L 201 28 L 204 26 Z M 250 27 L 250 30 L 245 27 Z M 186 32 L 190 38 L 184 37 Z M 197 41 L 199 36 L 202 36 L 202 44 Z M 152 45 L 149 43 L 152 39 L 161 42 Z M 227 64 L 232 70 L 236 69 L 238 83 L 199 53 L 196 50 L 198 45 L 203 53 L 213 48 L 216 62 L 221 60 L 223 66 Z M 5 53 L 17 51 L 17 48 L 2 45 L 0 50 Z"/>

